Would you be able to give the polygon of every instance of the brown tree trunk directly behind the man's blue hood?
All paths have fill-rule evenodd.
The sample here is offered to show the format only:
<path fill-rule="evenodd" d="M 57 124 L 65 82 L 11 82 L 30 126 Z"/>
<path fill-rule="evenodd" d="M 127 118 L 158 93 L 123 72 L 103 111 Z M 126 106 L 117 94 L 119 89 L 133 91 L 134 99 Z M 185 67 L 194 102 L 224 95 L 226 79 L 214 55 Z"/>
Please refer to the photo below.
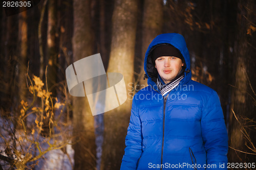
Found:
<path fill-rule="evenodd" d="M 144 57 L 148 45 L 161 33 L 163 25 L 163 1 L 144 1 L 143 23 L 142 23 L 142 51 L 140 65 L 140 85 L 147 86 L 147 79 L 144 78 Z"/>

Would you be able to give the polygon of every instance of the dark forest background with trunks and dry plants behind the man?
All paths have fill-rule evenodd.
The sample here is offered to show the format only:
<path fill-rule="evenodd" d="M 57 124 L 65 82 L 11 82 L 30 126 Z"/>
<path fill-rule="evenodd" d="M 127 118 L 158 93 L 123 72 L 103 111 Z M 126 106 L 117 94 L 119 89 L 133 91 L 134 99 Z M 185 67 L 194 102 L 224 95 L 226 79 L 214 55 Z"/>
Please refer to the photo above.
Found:
<path fill-rule="evenodd" d="M 228 161 L 253 169 L 256 1 L 30 2 L 0 8 L 0 169 L 119 169 L 131 100 L 92 116 L 86 97 L 69 94 L 65 70 L 100 53 L 106 72 L 124 76 L 131 98 L 146 85 L 147 46 L 172 32 L 186 40 L 193 80 L 219 94 Z M 68 162 L 56 162 L 53 150 Z"/>

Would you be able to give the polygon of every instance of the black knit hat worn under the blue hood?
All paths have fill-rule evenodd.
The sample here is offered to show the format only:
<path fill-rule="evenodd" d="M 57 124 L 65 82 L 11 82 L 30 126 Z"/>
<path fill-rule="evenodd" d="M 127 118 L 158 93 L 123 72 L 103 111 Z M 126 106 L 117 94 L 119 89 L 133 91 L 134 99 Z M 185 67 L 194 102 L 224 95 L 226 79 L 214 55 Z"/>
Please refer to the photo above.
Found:
<path fill-rule="evenodd" d="M 183 63 L 185 63 L 184 57 L 181 55 L 180 51 L 177 50 L 173 45 L 159 45 L 156 46 L 155 49 L 151 53 L 152 63 L 156 65 L 155 61 L 158 57 L 162 56 L 172 56 L 177 57 L 182 60 Z"/>

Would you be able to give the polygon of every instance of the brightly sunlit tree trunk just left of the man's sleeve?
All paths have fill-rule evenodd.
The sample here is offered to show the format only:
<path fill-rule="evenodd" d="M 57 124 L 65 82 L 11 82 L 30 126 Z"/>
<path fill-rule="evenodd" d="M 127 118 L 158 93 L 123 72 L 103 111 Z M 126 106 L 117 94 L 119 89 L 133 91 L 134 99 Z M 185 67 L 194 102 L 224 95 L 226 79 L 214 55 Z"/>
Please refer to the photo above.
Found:
<path fill-rule="evenodd" d="M 116 0 L 112 17 L 112 43 L 108 72 L 121 73 L 128 92 L 132 90 L 129 87 L 134 77 L 137 5 L 136 0 Z M 104 114 L 102 170 L 120 169 L 131 111 L 131 97 L 128 95 L 124 104 Z"/>

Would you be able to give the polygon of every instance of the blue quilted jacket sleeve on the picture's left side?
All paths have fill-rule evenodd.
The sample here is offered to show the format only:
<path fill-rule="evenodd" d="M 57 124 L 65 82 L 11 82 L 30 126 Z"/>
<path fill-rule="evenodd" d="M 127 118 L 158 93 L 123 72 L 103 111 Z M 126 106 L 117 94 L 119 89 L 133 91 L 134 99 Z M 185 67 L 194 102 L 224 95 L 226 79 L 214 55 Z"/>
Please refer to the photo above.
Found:
<path fill-rule="evenodd" d="M 138 114 L 135 98 L 133 99 L 130 124 L 125 138 L 126 148 L 121 163 L 121 170 L 137 168 L 138 160 L 142 153 L 141 121 Z"/>

